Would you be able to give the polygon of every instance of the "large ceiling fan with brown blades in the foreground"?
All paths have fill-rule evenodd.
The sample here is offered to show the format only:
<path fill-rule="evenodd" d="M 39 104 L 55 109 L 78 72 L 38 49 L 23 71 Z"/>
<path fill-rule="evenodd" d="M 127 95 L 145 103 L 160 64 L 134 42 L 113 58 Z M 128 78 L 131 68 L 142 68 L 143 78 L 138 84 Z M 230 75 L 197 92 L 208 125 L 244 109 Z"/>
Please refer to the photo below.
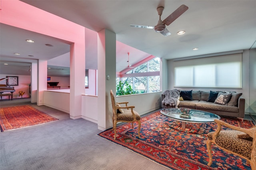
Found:
<path fill-rule="evenodd" d="M 140 26 L 140 25 L 130 25 L 130 26 L 136 27 L 136 28 L 150 28 L 150 29 L 154 28 L 156 32 L 160 32 L 166 37 L 171 35 L 171 33 L 167 30 L 166 26 L 170 25 L 172 22 L 174 22 L 174 20 L 176 20 L 179 16 L 181 16 L 184 12 L 186 12 L 186 10 L 188 10 L 188 7 L 186 5 L 181 5 L 163 21 L 161 20 L 161 16 L 162 16 L 164 7 L 160 6 L 156 10 L 159 15 L 159 20 L 156 26 Z"/>

